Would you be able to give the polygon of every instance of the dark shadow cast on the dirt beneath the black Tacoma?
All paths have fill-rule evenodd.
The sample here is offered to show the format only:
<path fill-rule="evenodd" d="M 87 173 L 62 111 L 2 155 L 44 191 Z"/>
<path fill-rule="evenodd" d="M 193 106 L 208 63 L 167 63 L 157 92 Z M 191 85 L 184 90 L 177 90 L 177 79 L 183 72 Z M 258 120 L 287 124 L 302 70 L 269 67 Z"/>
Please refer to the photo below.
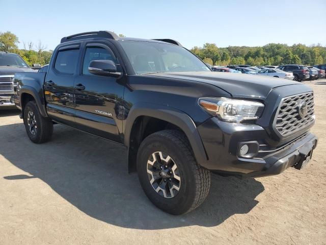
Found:
<path fill-rule="evenodd" d="M 0 126 L 0 154 L 29 175 L 2 176 L 8 181 L 39 178 L 87 215 L 132 229 L 212 227 L 236 213 L 248 213 L 264 190 L 255 180 L 212 175 L 205 203 L 191 213 L 173 216 L 147 199 L 137 174 L 127 173 L 126 149 L 115 143 L 56 125 L 53 138 L 32 143 L 23 124 Z M 14 147 L 13 147 L 14 146 Z M 37 195 L 37 189 L 31 189 Z"/>

